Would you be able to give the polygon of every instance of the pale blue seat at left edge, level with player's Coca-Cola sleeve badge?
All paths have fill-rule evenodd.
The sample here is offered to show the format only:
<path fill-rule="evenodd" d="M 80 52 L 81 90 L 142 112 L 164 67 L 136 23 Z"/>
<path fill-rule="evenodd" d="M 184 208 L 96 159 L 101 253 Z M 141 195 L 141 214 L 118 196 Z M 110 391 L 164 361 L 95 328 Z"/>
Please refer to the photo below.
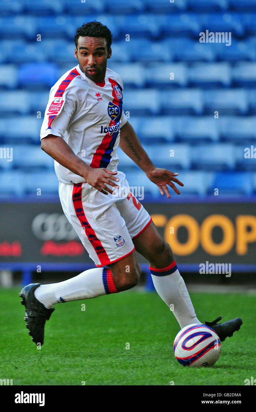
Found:
<path fill-rule="evenodd" d="M 28 93 L 22 90 L 2 91 L 0 99 L 0 112 L 5 115 L 10 113 L 26 114 L 30 111 Z"/>

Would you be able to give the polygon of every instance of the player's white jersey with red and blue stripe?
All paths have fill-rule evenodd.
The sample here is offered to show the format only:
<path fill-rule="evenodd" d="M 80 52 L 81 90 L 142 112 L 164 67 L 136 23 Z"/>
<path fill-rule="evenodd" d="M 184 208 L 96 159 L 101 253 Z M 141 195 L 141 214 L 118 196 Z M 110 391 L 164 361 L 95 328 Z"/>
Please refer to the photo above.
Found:
<path fill-rule="evenodd" d="M 50 91 L 40 138 L 60 136 L 88 166 L 117 171 L 120 128 L 127 122 L 123 82 L 107 68 L 103 84 L 90 80 L 79 65 L 60 77 Z M 85 182 L 56 161 L 54 168 L 62 183 Z"/>

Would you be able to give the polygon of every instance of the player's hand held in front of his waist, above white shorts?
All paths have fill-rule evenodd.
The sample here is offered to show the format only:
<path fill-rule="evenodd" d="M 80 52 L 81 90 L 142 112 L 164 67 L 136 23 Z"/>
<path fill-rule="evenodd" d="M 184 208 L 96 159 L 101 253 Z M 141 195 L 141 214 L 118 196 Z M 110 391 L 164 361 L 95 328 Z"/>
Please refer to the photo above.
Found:
<path fill-rule="evenodd" d="M 86 175 L 86 182 L 92 187 L 95 187 L 95 189 L 99 190 L 101 193 L 112 194 L 113 190 L 109 189 L 106 185 L 118 187 L 118 185 L 114 182 L 119 182 L 119 179 L 116 176 L 113 176 L 117 173 L 118 172 L 107 170 L 104 167 L 101 169 L 90 168 Z"/>

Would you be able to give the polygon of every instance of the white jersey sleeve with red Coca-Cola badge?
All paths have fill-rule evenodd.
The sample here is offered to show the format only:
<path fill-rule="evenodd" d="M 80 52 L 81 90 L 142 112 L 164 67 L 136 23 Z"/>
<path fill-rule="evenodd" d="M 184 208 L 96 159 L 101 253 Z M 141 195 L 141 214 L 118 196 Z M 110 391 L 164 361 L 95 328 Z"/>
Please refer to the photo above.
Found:
<path fill-rule="evenodd" d="M 77 99 L 74 87 L 70 85 L 63 94 L 59 90 L 60 85 L 52 87 L 50 91 L 40 131 L 40 140 L 49 134 L 63 138 L 69 121 L 76 110 Z"/>

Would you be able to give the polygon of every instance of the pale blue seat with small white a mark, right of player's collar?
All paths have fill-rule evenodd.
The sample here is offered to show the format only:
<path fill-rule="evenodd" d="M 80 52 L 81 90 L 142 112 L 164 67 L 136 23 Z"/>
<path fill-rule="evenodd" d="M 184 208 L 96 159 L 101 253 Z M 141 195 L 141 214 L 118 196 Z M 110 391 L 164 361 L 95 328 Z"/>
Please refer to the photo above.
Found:
<path fill-rule="evenodd" d="M 161 85 L 172 87 L 177 84 L 181 87 L 187 86 L 188 70 L 185 63 L 155 63 L 144 70 L 150 87 Z"/>

